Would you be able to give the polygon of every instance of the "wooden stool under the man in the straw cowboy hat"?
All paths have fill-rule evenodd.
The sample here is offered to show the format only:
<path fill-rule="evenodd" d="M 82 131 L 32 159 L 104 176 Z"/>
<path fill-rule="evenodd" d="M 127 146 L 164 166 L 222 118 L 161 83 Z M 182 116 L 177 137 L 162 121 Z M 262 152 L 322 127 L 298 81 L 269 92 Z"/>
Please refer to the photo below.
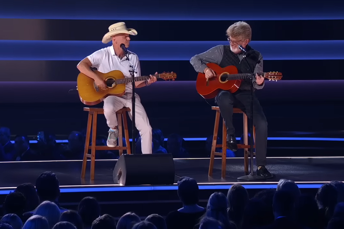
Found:
<path fill-rule="evenodd" d="M 84 111 L 88 111 L 88 120 L 87 120 L 87 130 L 86 130 L 86 141 L 85 141 L 85 152 L 84 152 L 84 159 L 83 159 L 83 167 L 81 170 L 81 178 L 85 178 L 86 173 L 86 163 L 87 158 L 91 158 L 91 171 L 90 171 L 90 180 L 94 180 L 94 165 L 95 165 L 95 156 L 96 150 L 119 150 L 119 156 L 123 154 L 123 150 L 127 150 L 127 153 L 130 154 L 130 142 L 129 142 L 129 132 L 128 132 L 128 124 L 127 124 L 127 116 L 126 112 L 129 112 L 130 109 L 124 107 L 116 112 L 117 114 L 117 121 L 118 121 L 118 143 L 119 146 L 116 147 L 108 147 L 108 146 L 96 146 L 96 138 L 97 138 L 97 115 L 104 114 L 103 108 L 88 108 L 84 107 Z M 92 119 L 93 118 L 93 119 Z M 122 118 L 123 118 L 123 126 L 124 126 L 124 135 L 126 139 L 126 147 L 123 146 L 123 138 L 122 138 Z M 93 124 L 93 126 L 92 126 Z M 91 133 L 91 126 L 92 126 L 92 143 L 91 146 L 89 145 L 89 137 Z M 88 150 L 91 150 L 91 154 L 88 154 Z"/>

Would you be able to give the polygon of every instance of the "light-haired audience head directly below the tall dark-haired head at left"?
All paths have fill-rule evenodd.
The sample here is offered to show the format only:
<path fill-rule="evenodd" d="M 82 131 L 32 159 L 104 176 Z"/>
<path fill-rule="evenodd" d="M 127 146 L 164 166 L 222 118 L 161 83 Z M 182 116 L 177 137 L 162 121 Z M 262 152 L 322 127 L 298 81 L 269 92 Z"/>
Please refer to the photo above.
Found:
<path fill-rule="evenodd" d="M 49 223 L 49 227 L 53 228 L 54 225 L 60 220 L 60 208 L 54 202 L 43 201 L 33 212 L 34 215 L 44 216 Z"/>

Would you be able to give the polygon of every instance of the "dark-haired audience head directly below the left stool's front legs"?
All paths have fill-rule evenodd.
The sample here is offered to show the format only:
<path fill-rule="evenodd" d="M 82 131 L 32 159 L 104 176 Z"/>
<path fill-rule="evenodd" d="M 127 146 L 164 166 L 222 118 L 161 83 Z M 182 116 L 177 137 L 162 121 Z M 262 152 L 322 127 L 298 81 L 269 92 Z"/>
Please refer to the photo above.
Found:
<path fill-rule="evenodd" d="M 91 196 L 83 198 L 78 206 L 78 213 L 85 226 L 91 226 L 92 222 L 100 216 L 98 201 Z"/>

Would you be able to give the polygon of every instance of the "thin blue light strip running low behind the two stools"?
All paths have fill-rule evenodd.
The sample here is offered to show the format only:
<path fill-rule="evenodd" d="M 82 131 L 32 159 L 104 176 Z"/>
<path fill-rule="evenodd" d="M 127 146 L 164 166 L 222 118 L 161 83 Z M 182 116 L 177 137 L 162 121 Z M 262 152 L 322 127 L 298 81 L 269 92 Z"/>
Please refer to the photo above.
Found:
<path fill-rule="evenodd" d="M 205 141 L 207 138 L 183 138 L 185 141 Z M 236 138 L 240 140 L 240 138 Z M 302 137 L 268 137 L 268 140 L 279 141 L 344 141 L 344 138 L 302 138 Z M 129 141 L 132 141 L 130 138 Z M 167 141 L 167 138 L 164 139 Z M 14 141 L 11 141 L 14 143 Z M 68 140 L 56 140 L 57 143 L 68 143 Z M 36 140 L 30 140 L 30 143 L 37 143 Z"/>

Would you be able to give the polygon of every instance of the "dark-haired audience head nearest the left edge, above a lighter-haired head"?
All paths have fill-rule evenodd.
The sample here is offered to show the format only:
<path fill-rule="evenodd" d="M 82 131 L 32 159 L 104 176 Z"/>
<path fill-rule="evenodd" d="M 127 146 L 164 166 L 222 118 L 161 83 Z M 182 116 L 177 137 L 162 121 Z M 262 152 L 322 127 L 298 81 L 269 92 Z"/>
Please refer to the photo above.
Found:
<path fill-rule="evenodd" d="M 20 192 L 12 192 L 8 194 L 3 204 L 4 214 L 13 213 L 22 215 L 25 210 L 25 201 L 24 195 Z"/>

